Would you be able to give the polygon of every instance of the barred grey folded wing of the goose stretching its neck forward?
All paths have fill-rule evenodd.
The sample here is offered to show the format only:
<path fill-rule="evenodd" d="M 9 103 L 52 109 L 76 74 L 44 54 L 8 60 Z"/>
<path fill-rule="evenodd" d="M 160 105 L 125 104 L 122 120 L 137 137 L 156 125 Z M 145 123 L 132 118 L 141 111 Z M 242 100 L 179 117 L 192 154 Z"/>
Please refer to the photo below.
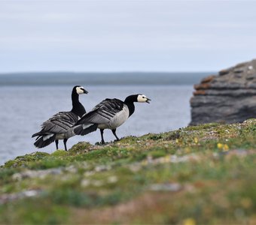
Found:
<path fill-rule="evenodd" d="M 106 98 L 97 104 L 92 111 L 85 114 L 77 124 L 107 124 L 121 110 L 123 110 L 123 101 L 117 98 Z"/>

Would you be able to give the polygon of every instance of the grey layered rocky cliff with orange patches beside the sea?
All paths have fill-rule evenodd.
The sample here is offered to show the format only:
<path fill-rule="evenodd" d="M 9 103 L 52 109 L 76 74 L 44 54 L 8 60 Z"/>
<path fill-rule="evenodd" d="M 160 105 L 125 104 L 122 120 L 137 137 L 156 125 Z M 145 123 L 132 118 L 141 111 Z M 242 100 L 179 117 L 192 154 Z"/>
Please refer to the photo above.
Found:
<path fill-rule="evenodd" d="M 191 125 L 256 118 L 256 59 L 206 77 L 194 89 Z"/>

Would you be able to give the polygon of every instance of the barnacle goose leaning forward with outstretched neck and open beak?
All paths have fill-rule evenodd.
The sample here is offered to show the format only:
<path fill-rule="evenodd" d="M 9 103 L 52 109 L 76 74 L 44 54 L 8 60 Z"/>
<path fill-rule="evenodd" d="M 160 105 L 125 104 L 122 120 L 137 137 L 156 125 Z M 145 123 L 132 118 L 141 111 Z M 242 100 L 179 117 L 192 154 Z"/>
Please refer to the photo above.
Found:
<path fill-rule="evenodd" d="M 120 101 L 117 98 L 105 99 L 97 104 L 92 111 L 83 115 L 75 124 L 74 132 L 78 135 L 85 135 L 93 131 L 95 124 L 100 129 L 102 136 L 102 143 L 105 143 L 103 138 L 103 130 L 110 129 L 112 133 L 119 140 L 116 129 L 123 124 L 131 115 L 133 115 L 135 102 L 148 103 L 151 101 L 145 95 L 130 95 L 125 101 Z"/>

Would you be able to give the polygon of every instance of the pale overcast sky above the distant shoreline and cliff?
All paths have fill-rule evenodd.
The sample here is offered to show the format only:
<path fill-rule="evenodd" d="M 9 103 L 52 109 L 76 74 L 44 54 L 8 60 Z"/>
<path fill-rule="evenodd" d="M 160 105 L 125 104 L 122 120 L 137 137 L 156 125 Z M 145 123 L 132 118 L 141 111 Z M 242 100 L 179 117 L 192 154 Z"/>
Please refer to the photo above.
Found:
<path fill-rule="evenodd" d="M 256 1 L 0 1 L 0 73 L 218 71 L 255 43 Z"/>

